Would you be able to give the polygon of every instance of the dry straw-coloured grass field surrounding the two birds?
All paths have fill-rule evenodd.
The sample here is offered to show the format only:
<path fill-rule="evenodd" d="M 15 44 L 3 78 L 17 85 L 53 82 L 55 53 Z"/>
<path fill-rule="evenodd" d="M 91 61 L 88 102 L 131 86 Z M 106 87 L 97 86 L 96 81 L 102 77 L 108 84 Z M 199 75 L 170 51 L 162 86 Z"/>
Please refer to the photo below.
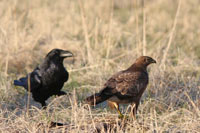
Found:
<path fill-rule="evenodd" d="M 148 69 L 150 83 L 137 121 L 113 124 L 107 132 L 200 132 L 199 4 L 1 0 L 0 132 L 93 132 L 108 119 L 119 122 L 106 103 L 87 110 L 81 101 L 141 55 L 153 57 L 157 64 Z M 31 98 L 27 111 L 28 94 L 13 86 L 13 80 L 31 72 L 53 48 L 76 55 L 65 61 L 70 78 L 63 90 L 70 95 L 50 98 L 47 110 Z M 121 106 L 127 115 L 128 108 Z M 51 129 L 51 121 L 67 126 Z"/>

